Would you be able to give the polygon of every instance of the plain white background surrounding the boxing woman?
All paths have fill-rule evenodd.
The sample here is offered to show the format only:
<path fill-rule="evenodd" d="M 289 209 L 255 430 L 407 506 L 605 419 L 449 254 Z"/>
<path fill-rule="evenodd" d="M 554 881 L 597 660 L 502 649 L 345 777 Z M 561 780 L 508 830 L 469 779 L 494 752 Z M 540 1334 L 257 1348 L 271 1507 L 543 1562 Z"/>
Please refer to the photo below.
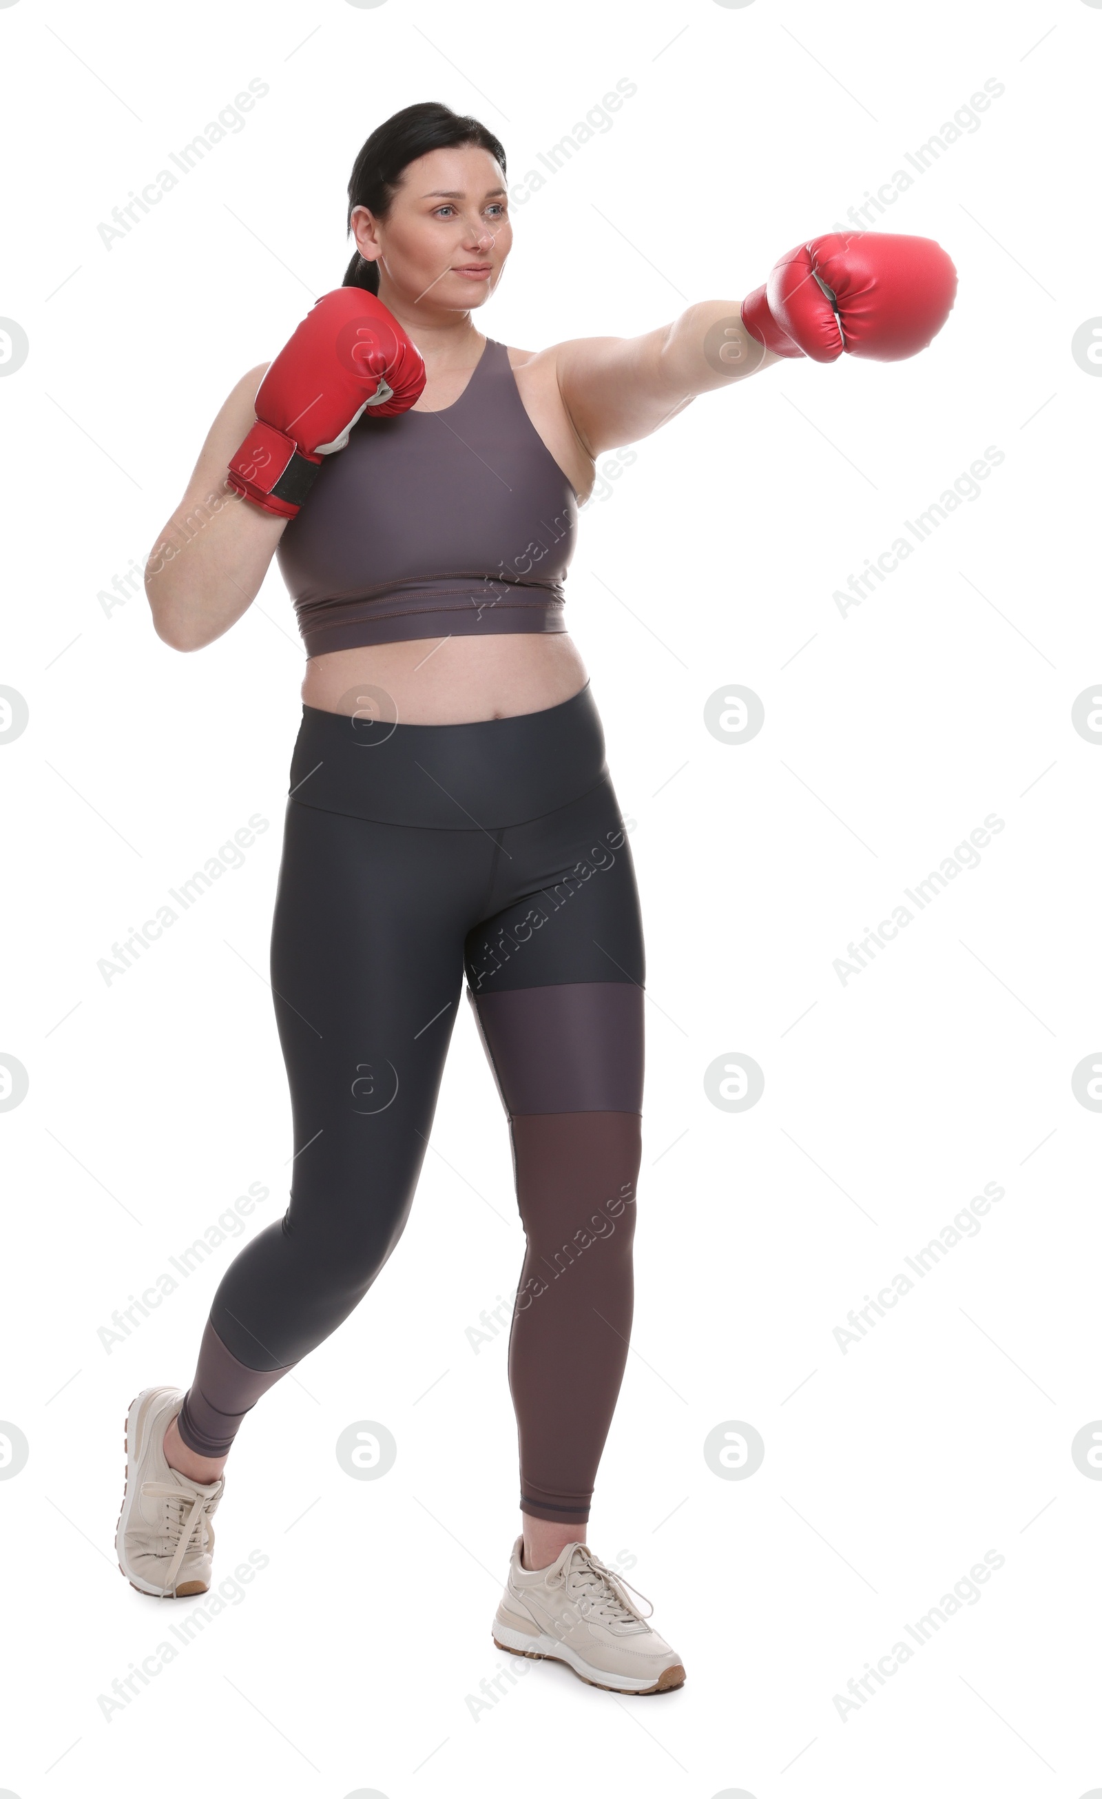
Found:
<path fill-rule="evenodd" d="M 31 1088 L 5 1157 L 0 1786 L 387 1799 L 451 1792 L 1080 1794 L 1098 1749 L 1102 1416 L 1098 678 L 1102 9 L 1084 0 L 555 7 L 192 0 L 0 7 L 5 648 L 0 1051 Z M 250 79 L 270 94 L 106 248 Z M 960 272 L 922 356 L 784 363 L 705 396 L 582 515 L 568 621 L 591 673 L 647 926 L 638 1297 L 590 1542 L 687 1686 L 618 1700 L 505 1660 L 518 1527 L 503 1335 L 521 1263 L 505 1121 L 460 1009 L 404 1240 L 365 1304 L 248 1419 L 216 1576 L 266 1569 L 120 1713 L 167 1639 L 120 1580 L 122 1421 L 187 1385 L 223 1245 L 110 1353 L 111 1311 L 250 1182 L 288 1196 L 291 1117 L 262 979 L 302 649 L 273 567 L 178 655 L 101 592 L 149 552 L 234 381 L 349 257 L 345 185 L 390 112 L 442 99 L 511 182 L 618 79 L 638 92 L 529 200 L 478 322 L 536 349 L 737 300 L 996 79 L 1005 94 L 877 225 Z M 955 479 L 1005 461 L 859 608 L 832 601 Z M 703 725 L 724 684 L 760 734 Z M 989 813 L 1005 829 L 875 962 L 832 968 Z M 270 829 L 124 977 L 97 961 L 252 813 Z M 913 910 L 913 908 L 911 908 Z M 764 1096 L 705 1096 L 717 1056 Z M 983 1189 L 992 1205 L 843 1355 L 834 1329 Z M 397 1461 L 334 1443 L 383 1421 Z M 744 1481 L 703 1441 L 760 1432 Z M 859 1709 L 834 1695 L 987 1551 L 1005 1565 Z M 431 1758 L 431 1759 L 430 1759 Z"/>

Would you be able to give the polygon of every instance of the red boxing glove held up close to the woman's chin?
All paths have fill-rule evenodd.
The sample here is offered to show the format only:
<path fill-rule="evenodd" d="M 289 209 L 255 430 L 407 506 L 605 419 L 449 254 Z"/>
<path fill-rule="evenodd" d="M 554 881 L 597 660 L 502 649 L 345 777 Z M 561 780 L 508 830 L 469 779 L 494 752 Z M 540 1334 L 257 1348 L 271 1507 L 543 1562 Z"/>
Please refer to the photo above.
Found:
<path fill-rule="evenodd" d="M 422 390 L 421 351 L 374 293 L 324 293 L 261 381 L 257 423 L 230 459 L 230 488 L 295 518 L 322 457 L 345 448 L 360 416 L 394 417 Z"/>

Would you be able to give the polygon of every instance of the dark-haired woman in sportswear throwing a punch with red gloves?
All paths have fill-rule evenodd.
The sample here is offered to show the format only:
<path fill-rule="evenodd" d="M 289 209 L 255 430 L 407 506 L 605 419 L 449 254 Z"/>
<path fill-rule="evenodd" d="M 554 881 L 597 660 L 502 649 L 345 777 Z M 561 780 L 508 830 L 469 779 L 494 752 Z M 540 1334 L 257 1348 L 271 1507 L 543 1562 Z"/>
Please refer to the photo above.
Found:
<path fill-rule="evenodd" d="M 831 237 L 742 308 L 507 349 L 473 318 L 512 248 L 505 151 L 440 104 L 367 140 L 349 228 L 343 288 L 237 383 L 146 576 L 158 635 L 198 649 L 277 554 L 306 642 L 271 937 L 295 1175 L 282 1222 L 218 1288 L 187 1394 L 129 1409 L 119 1563 L 140 1592 L 210 1585 L 244 1412 L 401 1236 L 466 968 L 527 1232 L 509 1351 L 521 1535 L 494 1641 L 667 1691 L 680 1655 L 586 1545 L 631 1331 L 644 943 L 563 626 L 577 502 L 604 450 L 780 356 L 913 354 L 955 277 L 926 239 Z"/>

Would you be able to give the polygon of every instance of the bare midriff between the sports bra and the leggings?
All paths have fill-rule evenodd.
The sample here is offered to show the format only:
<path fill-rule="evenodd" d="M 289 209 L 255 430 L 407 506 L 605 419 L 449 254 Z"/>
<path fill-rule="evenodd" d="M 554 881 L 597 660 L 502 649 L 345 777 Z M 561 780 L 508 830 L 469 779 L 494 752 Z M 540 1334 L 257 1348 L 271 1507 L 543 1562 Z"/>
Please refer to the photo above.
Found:
<path fill-rule="evenodd" d="M 322 712 L 369 709 L 401 725 L 469 725 L 543 712 L 584 685 L 586 666 L 566 631 L 514 631 L 417 637 L 311 657 L 302 700 Z"/>

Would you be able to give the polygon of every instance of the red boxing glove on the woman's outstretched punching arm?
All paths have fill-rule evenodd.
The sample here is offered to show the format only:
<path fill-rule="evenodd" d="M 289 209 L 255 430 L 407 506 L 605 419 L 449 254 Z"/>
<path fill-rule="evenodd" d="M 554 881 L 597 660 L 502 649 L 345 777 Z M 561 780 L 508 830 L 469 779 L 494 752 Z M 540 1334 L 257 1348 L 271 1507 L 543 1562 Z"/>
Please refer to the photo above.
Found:
<path fill-rule="evenodd" d="M 778 356 L 917 356 L 953 309 L 956 270 L 933 237 L 827 232 L 796 245 L 742 300 L 742 324 Z"/>

